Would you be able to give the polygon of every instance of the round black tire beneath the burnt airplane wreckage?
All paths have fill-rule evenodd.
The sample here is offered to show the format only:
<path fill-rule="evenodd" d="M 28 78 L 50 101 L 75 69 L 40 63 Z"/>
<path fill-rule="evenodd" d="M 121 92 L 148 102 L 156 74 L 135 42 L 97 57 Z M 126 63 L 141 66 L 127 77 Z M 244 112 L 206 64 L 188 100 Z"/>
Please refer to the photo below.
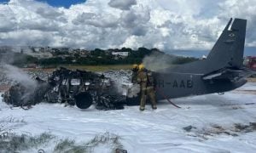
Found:
<path fill-rule="evenodd" d="M 89 93 L 79 93 L 74 96 L 79 109 L 88 109 L 92 105 L 92 97 Z"/>

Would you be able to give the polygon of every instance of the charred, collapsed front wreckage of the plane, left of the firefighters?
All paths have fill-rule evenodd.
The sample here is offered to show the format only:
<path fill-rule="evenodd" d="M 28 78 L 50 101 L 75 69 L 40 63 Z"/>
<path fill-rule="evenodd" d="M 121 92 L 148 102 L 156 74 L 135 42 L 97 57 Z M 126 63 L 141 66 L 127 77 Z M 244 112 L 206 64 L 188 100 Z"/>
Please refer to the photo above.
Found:
<path fill-rule="evenodd" d="M 33 89 L 21 83 L 12 86 L 3 94 L 3 101 L 24 109 L 41 102 L 77 105 L 80 109 L 95 104 L 98 110 L 119 110 L 124 105 L 138 105 L 134 99 L 139 96 L 129 94 L 131 88 L 127 90 L 129 95 L 120 94 L 111 78 L 91 71 L 72 71 L 61 67 L 48 77 L 48 81 L 39 77 L 35 80 L 37 85 Z"/>

